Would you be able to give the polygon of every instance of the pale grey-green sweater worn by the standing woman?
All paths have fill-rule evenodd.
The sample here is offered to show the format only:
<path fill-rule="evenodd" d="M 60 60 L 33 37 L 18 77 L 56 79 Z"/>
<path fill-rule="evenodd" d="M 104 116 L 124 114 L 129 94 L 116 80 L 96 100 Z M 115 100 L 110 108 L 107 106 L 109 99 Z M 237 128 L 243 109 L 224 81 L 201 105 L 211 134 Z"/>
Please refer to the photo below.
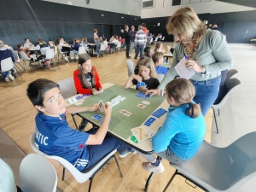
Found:
<path fill-rule="evenodd" d="M 177 75 L 174 67 L 183 59 L 184 54 L 183 44 L 178 43 L 173 52 L 172 65 L 158 87 L 160 90 L 164 90 L 166 84 Z M 224 34 L 216 30 L 207 30 L 198 45 L 195 55 L 198 65 L 206 67 L 206 73 L 195 73 L 191 77 L 191 79 L 198 81 L 216 78 L 220 76 L 221 71 L 229 69 L 234 64 L 234 59 Z"/>

